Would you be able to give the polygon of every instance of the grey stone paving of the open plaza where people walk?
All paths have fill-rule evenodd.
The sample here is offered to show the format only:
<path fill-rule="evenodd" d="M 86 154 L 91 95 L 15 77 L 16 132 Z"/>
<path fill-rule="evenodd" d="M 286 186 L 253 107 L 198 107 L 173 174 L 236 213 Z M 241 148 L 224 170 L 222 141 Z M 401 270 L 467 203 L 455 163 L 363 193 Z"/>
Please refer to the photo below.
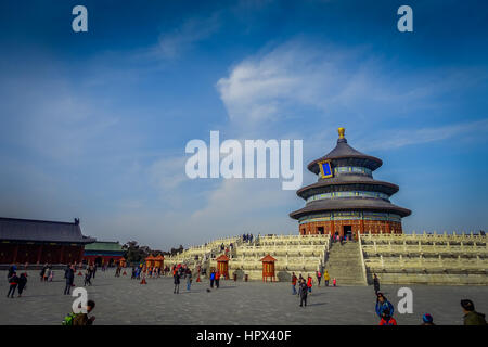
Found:
<path fill-rule="evenodd" d="M 291 294 L 287 283 L 221 281 L 219 290 L 206 292 L 208 283 L 195 283 L 190 293 L 184 280 L 180 294 L 172 294 L 172 278 L 149 279 L 146 285 L 115 271 L 97 272 L 89 298 L 95 300 L 95 324 L 374 324 L 372 286 L 313 287 L 307 308 Z M 129 271 L 128 271 L 129 273 Z M 28 271 L 24 297 L 7 298 L 7 272 L 0 271 L 0 324 L 61 324 L 74 300 L 63 295 L 63 271 L 55 281 L 41 283 L 39 271 Z M 76 275 L 75 284 L 82 284 Z M 398 285 L 382 290 L 397 308 Z M 399 325 L 420 324 L 429 312 L 437 324 L 462 324 L 461 298 L 471 298 L 476 309 L 488 312 L 486 286 L 412 285 L 413 314 L 395 314 Z"/>

